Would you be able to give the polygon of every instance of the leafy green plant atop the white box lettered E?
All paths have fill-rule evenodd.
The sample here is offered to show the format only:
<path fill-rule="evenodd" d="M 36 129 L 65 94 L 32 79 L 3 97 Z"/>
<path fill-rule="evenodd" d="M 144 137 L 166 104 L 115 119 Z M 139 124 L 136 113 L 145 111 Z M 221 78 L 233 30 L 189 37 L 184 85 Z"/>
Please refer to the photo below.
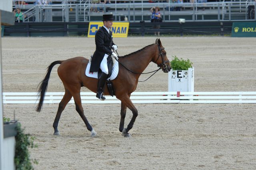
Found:
<path fill-rule="evenodd" d="M 172 56 L 172 58 L 170 62 L 172 70 L 188 70 L 188 68 L 192 68 L 193 63 L 189 59 L 184 60 L 177 56 Z"/>

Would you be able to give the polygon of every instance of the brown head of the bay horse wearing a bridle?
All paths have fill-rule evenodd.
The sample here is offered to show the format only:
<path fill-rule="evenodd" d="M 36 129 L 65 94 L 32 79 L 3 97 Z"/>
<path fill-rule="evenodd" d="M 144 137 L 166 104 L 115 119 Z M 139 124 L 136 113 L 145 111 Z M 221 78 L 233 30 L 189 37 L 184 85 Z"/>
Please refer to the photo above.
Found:
<path fill-rule="evenodd" d="M 168 73 L 171 70 L 171 65 L 166 56 L 166 51 L 164 50 L 160 39 L 156 39 L 156 44 L 158 45 L 158 54 L 153 59 L 153 62 L 156 63 L 158 67 L 162 68 L 165 73 Z"/>

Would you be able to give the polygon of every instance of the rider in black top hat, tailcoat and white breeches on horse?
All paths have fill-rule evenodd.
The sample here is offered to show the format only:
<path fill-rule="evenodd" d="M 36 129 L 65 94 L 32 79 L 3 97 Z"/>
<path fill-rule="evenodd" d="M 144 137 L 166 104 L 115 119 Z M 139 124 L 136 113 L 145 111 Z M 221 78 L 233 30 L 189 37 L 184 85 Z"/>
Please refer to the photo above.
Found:
<path fill-rule="evenodd" d="M 112 40 L 112 32 L 110 31 L 113 21 L 113 14 L 104 14 L 104 25 L 95 34 L 96 50 L 92 57 L 90 72 L 98 72 L 100 69 L 102 70 L 102 73 L 99 76 L 96 94 L 96 97 L 100 100 L 106 99 L 104 97 L 103 90 L 106 83 L 106 78 L 108 76 L 107 58 L 108 56 L 112 55 L 118 59 L 117 55 L 111 51 L 111 48 L 113 50 L 117 50 L 117 46 Z"/>

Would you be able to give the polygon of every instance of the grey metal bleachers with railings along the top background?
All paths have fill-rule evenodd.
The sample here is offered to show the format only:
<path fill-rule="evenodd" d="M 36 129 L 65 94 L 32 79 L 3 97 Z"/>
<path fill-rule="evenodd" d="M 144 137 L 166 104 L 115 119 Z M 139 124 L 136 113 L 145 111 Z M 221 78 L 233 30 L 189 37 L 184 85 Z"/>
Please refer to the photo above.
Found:
<path fill-rule="evenodd" d="M 185 18 L 186 21 L 256 20 L 255 15 L 248 15 L 248 7 L 255 9 L 256 6 L 256 1 L 252 0 L 182 4 L 170 3 L 171 0 L 155 3 L 149 3 L 148 0 L 112 0 L 110 4 L 91 4 L 90 0 L 52 0 L 52 4 L 48 5 L 35 4 L 36 0 L 24 0 L 26 5 L 18 5 L 16 1 L 13 8 L 22 10 L 26 16 L 24 22 L 99 21 L 104 13 L 112 13 L 117 21 L 127 18 L 129 22 L 150 22 L 150 8 L 153 6 L 160 7 L 164 22 L 174 22 L 178 18 Z M 178 6 L 181 6 L 180 11 L 176 11 Z M 93 12 L 95 8 L 100 11 Z"/>

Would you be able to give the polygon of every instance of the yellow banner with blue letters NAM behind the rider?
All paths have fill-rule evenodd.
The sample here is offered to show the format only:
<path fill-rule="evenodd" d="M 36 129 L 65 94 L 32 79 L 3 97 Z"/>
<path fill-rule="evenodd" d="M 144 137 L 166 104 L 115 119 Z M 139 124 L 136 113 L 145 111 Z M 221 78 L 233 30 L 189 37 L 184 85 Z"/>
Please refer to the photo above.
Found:
<path fill-rule="evenodd" d="M 97 30 L 100 29 L 103 26 L 102 22 L 90 22 L 89 23 L 89 29 L 88 29 L 88 37 L 94 37 Z M 129 30 L 129 22 L 113 22 L 112 28 L 110 28 L 112 31 L 113 37 L 124 37 L 126 38 L 128 35 Z"/>

